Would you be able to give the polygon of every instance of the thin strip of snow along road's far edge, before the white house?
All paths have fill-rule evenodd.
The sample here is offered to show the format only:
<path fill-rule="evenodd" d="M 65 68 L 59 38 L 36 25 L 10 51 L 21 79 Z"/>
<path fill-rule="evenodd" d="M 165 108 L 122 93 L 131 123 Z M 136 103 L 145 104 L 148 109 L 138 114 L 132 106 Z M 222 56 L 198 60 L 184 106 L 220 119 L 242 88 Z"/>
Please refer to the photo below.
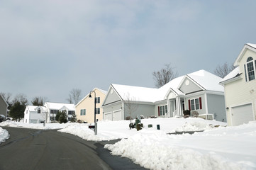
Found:
<path fill-rule="evenodd" d="M 67 127 L 68 125 L 72 125 L 74 123 L 46 123 L 43 126 L 43 123 L 21 123 L 12 120 L 6 120 L 0 123 L 0 126 L 14 127 L 14 128 L 30 128 L 30 129 L 62 129 Z"/>

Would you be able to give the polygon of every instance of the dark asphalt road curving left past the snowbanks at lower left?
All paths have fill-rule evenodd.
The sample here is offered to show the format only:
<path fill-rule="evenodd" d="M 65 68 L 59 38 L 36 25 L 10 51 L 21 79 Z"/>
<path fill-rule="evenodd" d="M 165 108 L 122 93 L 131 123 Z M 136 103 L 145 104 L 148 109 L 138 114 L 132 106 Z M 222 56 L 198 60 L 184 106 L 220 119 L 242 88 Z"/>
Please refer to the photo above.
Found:
<path fill-rule="evenodd" d="M 2 128 L 10 138 L 0 145 L 0 170 L 143 169 L 103 148 L 116 141 L 89 142 L 57 130 Z"/>

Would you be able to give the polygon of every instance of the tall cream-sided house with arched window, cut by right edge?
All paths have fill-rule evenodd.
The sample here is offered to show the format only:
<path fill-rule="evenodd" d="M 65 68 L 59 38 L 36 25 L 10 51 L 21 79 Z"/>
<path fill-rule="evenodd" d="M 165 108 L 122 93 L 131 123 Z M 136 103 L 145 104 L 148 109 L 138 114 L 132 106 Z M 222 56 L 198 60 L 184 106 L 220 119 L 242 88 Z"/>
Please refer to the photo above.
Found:
<path fill-rule="evenodd" d="M 256 118 L 256 44 L 245 44 L 234 66 L 220 84 L 225 89 L 228 125 L 241 125 Z"/>

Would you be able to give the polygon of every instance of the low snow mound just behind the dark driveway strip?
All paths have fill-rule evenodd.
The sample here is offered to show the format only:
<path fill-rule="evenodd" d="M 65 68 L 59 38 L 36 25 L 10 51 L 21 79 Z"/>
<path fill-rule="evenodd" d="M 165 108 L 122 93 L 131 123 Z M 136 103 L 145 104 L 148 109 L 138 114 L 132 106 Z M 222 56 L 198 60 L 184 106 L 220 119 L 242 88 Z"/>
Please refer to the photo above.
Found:
<path fill-rule="evenodd" d="M 204 131 L 204 130 L 212 130 L 213 125 L 208 125 L 204 122 L 191 122 L 185 123 L 184 125 L 177 127 L 176 132 L 191 132 L 191 131 Z"/>

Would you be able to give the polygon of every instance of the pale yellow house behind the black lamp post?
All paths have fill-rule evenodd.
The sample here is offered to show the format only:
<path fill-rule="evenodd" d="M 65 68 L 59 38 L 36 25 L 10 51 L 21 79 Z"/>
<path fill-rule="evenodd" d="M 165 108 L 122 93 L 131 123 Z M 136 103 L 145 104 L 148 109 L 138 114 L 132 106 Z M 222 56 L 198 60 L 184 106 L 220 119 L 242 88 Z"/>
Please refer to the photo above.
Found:
<path fill-rule="evenodd" d="M 95 91 L 95 93 L 93 91 Z M 75 106 L 77 120 L 82 120 L 84 123 L 94 123 L 94 98 L 96 103 L 96 122 L 102 120 L 103 111 L 101 105 L 106 97 L 106 93 L 107 91 L 94 88 L 91 93 L 87 94 L 87 96 L 79 101 Z M 91 98 L 89 97 L 90 94 Z"/>

